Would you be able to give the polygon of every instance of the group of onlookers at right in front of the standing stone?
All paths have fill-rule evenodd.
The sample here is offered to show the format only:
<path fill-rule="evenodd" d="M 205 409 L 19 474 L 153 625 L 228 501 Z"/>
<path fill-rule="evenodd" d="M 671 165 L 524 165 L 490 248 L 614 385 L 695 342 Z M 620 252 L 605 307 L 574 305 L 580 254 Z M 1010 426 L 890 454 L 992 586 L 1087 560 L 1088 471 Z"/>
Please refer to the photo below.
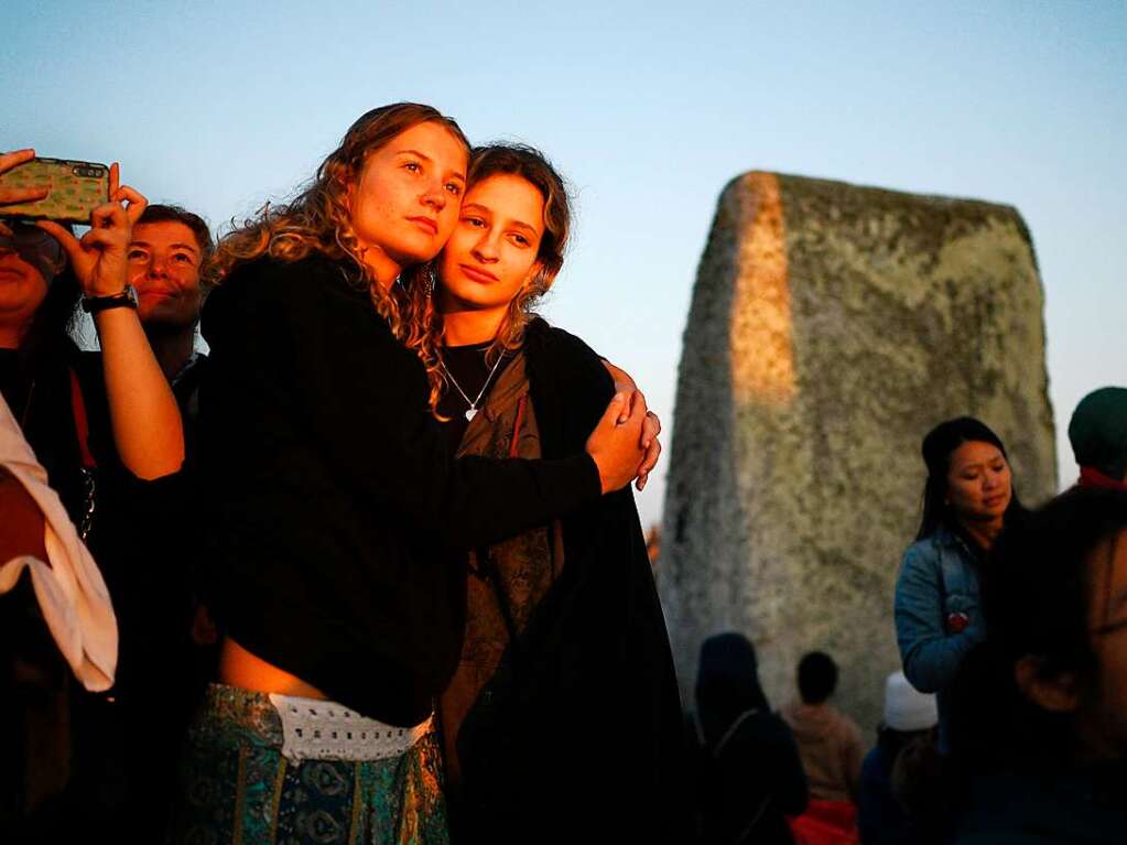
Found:
<path fill-rule="evenodd" d="M 706 842 L 1127 840 L 1127 388 L 1080 402 L 1076 486 L 1028 510 L 1002 441 L 961 417 L 923 441 L 928 481 L 895 596 L 903 671 L 876 744 L 799 662 L 773 712 L 740 634 L 701 649 Z"/>

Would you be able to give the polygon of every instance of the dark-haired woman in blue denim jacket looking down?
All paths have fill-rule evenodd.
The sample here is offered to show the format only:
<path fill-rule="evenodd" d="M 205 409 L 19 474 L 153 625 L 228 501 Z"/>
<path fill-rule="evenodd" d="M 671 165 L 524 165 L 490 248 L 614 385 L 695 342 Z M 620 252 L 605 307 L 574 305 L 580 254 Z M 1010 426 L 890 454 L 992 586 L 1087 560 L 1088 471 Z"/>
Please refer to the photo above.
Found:
<path fill-rule="evenodd" d="M 986 637 L 979 569 L 1002 526 L 1021 513 L 1005 446 L 973 417 L 923 439 L 923 519 L 896 581 L 896 640 L 904 674 L 939 704 L 939 747 L 949 748 L 949 687 Z"/>

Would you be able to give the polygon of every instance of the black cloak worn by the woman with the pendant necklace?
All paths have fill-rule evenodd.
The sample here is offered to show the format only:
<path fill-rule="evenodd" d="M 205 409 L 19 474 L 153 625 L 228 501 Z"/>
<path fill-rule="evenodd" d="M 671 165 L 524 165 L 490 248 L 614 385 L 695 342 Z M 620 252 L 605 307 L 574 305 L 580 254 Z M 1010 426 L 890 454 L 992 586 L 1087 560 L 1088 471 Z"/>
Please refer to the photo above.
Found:
<path fill-rule="evenodd" d="M 582 340 L 524 345 L 544 457 L 583 447 L 613 394 Z M 564 567 L 463 722 L 460 842 L 687 840 L 681 702 L 629 489 L 562 519 Z"/>

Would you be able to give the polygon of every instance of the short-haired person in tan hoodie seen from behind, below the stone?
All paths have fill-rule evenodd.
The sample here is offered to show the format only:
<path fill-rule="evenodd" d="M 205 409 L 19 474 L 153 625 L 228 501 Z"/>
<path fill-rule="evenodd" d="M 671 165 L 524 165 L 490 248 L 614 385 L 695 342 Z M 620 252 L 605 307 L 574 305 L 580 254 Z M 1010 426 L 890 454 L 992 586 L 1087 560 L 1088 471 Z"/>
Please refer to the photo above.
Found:
<path fill-rule="evenodd" d="M 800 701 L 782 711 L 802 758 L 810 798 L 855 801 L 863 747 L 861 730 L 828 699 L 837 686 L 837 667 L 828 655 L 815 651 L 799 662 Z"/>

